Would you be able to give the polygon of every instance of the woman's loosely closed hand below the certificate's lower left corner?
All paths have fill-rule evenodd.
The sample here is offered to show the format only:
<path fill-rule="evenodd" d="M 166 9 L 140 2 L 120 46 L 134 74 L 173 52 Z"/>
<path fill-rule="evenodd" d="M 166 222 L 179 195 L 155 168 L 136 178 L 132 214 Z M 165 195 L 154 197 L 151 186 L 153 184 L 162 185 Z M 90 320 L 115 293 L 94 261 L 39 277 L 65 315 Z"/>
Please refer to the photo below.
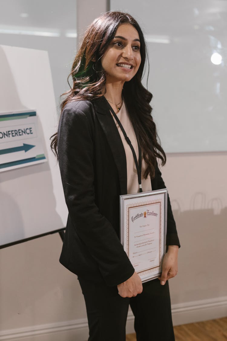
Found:
<path fill-rule="evenodd" d="M 142 281 L 137 272 L 127 279 L 127 281 L 117 285 L 118 294 L 121 297 L 135 297 L 143 291 Z"/>

